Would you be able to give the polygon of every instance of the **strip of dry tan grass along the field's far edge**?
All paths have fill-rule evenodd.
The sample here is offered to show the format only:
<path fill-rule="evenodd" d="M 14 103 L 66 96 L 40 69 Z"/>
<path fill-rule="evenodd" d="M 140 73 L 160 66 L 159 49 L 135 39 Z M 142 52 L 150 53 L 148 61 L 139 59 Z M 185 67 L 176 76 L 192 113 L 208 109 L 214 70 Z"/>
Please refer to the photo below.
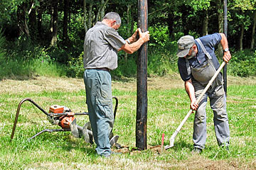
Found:
<path fill-rule="evenodd" d="M 228 77 L 228 86 L 233 84 L 253 84 L 253 78 Z M 149 90 L 169 90 L 183 88 L 184 83 L 179 74 L 166 75 L 164 77 L 148 77 L 147 87 Z M 80 91 L 85 89 L 83 79 L 66 77 L 34 77 L 33 79 L 14 80 L 4 79 L 0 81 L 0 94 L 19 94 L 41 91 Z M 125 78 L 112 81 L 112 89 L 121 91 L 136 91 L 137 79 Z"/>

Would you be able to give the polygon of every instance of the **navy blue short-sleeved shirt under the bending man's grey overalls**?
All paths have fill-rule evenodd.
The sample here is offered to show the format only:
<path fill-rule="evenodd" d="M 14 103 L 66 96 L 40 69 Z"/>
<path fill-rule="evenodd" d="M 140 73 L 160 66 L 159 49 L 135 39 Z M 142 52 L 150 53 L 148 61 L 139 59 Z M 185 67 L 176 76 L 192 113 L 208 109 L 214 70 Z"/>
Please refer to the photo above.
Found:
<path fill-rule="evenodd" d="M 209 52 L 210 56 L 212 57 L 214 67 L 217 70 L 218 67 L 220 67 L 220 63 L 218 62 L 218 59 L 217 59 L 214 51 L 215 51 L 215 46 L 220 43 L 221 35 L 219 33 L 214 33 L 211 35 L 203 36 L 199 39 L 203 43 L 203 46 L 206 48 L 206 51 Z M 188 60 L 189 65 L 192 68 L 201 67 L 201 65 L 203 65 L 203 63 L 206 62 L 206 60 L 208 60 L 208 57 L 204 54 L 204 52 L 201 49 L 198 42 L 196 42 L 196 46 L 198 48 L 197 55 Z M 183 79 L 183 81 L 188 81 L 189 79 L 193 79 L 192 74 L 188 74 L 188 68 L 186 66 L 186 59 L 184 57 L 178 58 L 178 71 L 179 71 L 179 73 L 181 75 L 181 79 Z"/>

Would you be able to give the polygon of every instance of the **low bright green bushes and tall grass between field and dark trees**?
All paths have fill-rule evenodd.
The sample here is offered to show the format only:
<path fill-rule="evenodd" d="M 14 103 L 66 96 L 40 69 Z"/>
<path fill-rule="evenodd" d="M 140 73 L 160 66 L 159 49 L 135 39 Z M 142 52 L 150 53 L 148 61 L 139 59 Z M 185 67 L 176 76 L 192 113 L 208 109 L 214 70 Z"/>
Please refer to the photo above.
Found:
<path fill-rule="evenodd" d="M 164 76 L 178 72 L 176 41 L 171 41 L 165 36 L 166 29 L 164 28 L 150 28 L 149 30 L 154 32 L 154 40 L 148 45 L 149 76 Z M 66 50 L 58 46 L 45 48 L 34 45 L 25 38 L 16 42 L 16 47 L 11 48 L 11 43 L 5 40 L 2 31 L 0 33 L 0 79 L 10 77 L 24 79 L 24 77 L 38 75 L 82 77 L 84 72 L 82 41 L 80 47 Z M 228 64 L 228 74 L 238 77 L 256 76 L 256 51 L 242 50 L 231 52 L 231 55 L 233 57 Z M 125 52 L 119 52 L 118 67 L 112 71 L 112 77 L 114 79 L 136 77 L 137 56 L 137 52 L 127 56 Z"/>

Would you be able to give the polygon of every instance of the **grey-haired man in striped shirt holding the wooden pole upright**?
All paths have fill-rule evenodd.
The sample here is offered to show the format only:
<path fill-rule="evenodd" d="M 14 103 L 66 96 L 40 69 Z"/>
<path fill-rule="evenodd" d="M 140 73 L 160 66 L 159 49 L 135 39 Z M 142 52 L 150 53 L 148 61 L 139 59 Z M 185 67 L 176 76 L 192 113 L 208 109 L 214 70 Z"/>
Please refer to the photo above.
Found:
<path fill-rule="evenodd" d="M 117 68 L 117 52 L 124 50 L 132 54 L 149 41 L 149 31 L 142 33 L 140 28 L 124 40 L 117 32 L 120 26 L 119 14 L 110 12 L 85 35 L 83 62 L 86 103 L 96 151 L 103 157 L 112 154 L 109 135 L 113 128 L 114 114 L 110 70 Z"/>

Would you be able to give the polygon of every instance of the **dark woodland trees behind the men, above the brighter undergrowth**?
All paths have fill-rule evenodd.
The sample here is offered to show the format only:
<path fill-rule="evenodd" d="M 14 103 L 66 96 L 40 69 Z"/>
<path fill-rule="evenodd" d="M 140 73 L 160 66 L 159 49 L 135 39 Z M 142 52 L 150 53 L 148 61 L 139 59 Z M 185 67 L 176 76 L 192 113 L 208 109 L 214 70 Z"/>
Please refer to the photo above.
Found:
<path fill-rule="evenodd" d="M 41 52 L 70 67 L 80 64 L 79 68 L 85 33 L 105 13 L 119 13 L 123 38 L 132 35 L 138 21 L 136 0 L 1 0 L 0 11 L 0 33 L 10 56 L 22 58 Z M 151 53 L 175 55 L 176 41 L 182 35 L 198 38 L 223 33 L 223 0 L 149 0 L 148 11 Z M 255 50 L 255 27 L 256 1 L 228 0 L 228 42 L 233 52 Z M 126 54 L 119 56 L 127 60 Z"/>

